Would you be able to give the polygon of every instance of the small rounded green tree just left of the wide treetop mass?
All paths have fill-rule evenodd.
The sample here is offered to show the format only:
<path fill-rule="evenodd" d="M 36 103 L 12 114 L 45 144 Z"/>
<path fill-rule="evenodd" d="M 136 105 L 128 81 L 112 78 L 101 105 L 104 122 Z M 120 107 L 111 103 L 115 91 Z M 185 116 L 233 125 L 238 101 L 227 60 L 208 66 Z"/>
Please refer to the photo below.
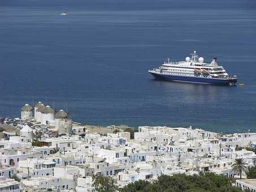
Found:
<path fill-rule="evenodd" d="M 118 189 L 111 177 L 93 176 L 93 187 L 98 192 L 113 192 Z"/>

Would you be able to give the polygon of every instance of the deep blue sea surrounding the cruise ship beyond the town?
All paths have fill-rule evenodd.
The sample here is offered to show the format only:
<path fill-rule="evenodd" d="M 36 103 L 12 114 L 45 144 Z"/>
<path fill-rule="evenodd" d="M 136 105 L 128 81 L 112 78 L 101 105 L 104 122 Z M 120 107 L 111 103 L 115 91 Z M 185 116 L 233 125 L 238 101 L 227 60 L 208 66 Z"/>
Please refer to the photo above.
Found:
<path fill-rule="evenodd" d="M 86 124 L 256 131 L 255 41 L 255 0 L 1 0 L 0 116 L 36 100 Z M 147 73 L 193 50 L 244 88 Z"/>

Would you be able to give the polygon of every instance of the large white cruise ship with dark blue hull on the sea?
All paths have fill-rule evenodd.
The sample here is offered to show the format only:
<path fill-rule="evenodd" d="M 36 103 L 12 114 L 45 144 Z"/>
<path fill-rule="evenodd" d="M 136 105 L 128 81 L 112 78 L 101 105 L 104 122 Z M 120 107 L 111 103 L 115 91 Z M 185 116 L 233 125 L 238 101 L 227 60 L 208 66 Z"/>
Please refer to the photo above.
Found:
<path fill-rule="evenodd" d="M 204 63 L 194 51 L 184 62 L 164 62 L 158 69 L 150 69 L 149 73 L 158 80 L 183 81 L 202 84 L 235 85 L 237 76 L 229 76 L 214 58 L 211 63 Z"/>

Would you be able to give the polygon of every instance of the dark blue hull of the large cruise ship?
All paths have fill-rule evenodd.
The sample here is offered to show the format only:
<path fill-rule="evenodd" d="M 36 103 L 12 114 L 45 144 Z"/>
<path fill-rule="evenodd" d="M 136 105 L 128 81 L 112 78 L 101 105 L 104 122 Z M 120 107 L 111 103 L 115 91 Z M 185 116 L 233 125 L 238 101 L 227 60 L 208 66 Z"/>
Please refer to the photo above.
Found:
<path fill-rule="evenodd" d="M 161 73 L 150 72 L 151 75 L 157 80 L 164 81 L 181 81 L 181 82 L 193 82 L 201 84 L 215 84 L 215 85 L 235 85 L 237 78 L 209 78 L 209 77 L 196 77 L 196 76 L 178 76 L 178 75 L 166 75 Z"/>

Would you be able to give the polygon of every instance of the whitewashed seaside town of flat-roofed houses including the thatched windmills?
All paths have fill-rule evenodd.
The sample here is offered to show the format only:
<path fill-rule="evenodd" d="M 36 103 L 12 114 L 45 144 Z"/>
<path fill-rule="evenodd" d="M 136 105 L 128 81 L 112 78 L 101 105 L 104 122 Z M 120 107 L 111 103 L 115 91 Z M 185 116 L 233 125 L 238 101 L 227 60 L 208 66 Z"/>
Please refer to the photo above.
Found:
<path fill-rule="evenodd" d="M 0 191 L 89 192 L 95 191 L 95 175 L 111 177 L 122 188 L 163 174 L 205 172 L 237 178 L 235 186 L 256 190 L 256 180 L 232 167 L 238 158 L 246 167 L 256 164 L 256 133 L 220 134 L 192 126 L 139 126 L 131 132 L 125 126 L 81 125 L 41 102 L 25 104 L 20 115 L 1 119 L 6 129 L 0 141 Z"/>

